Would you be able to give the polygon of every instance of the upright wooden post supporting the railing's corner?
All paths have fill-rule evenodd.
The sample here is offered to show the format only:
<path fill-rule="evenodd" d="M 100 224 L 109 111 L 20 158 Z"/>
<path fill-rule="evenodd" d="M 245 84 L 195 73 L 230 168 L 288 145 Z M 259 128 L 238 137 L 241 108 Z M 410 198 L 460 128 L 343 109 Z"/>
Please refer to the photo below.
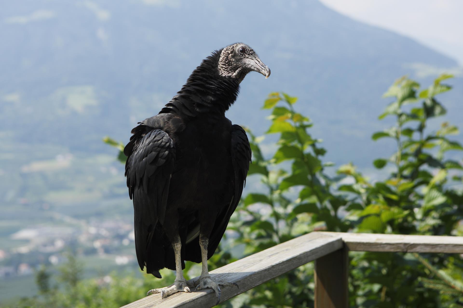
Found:
<path fill-rule="evenodd" d="M 344 245 L 315 260 L 315 308 L 348 308 L 349 254 Z"/>

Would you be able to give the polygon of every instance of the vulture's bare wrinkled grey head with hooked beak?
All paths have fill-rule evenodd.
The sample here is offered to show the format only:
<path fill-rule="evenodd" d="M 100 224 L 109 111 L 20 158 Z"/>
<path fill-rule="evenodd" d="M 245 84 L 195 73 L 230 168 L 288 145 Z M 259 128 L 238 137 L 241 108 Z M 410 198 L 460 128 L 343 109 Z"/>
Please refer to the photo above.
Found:
<path fill-rule="evenodd" d="M 252 48 L 243 43 L 225 47 L 219 58 L 219 74 L 241 82 L 248 72 L 260 72 L 268 78 L 270 69 L 263 64 Z"/>

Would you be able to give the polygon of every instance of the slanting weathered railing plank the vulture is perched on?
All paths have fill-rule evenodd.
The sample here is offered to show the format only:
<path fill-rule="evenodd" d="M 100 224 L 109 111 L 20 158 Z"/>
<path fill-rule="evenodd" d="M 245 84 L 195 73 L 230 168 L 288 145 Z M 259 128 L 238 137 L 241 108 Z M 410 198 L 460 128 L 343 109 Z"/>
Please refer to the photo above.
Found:
<path fill-rule="evenodd" d="M 225 302 L 244 291 L 342 247 L 343 242 L 340 236 L 313 232 L 218 268 L 211 272 L 211 276 L 239 285 L 239 289 L 233 286 L 221 287 L 220 302 Z M 206 289 L 193 293 L 176 293 L 164 300 L 161 299 L 160 294 L 154 294 L 128 304 L 124 308 L 208 308 L 213 307 L 215 302 L 213 290 Z"/>

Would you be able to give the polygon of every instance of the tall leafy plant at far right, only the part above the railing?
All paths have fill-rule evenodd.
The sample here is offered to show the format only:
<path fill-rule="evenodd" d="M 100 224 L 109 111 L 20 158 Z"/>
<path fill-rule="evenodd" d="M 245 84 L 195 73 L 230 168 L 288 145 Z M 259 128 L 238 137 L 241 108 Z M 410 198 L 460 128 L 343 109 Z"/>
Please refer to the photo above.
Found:
<path fill-rule="evenodd" d="M 442 80 L 450 77 L 440 76 L 431 87 L 419 92 L 419 96 L 419 84 L 401 78 L 384 94 L 384 97 L 394 97 L 395 101 L 388 105 L 379 119 L 392 115 L 396 124 L 374 133 L 372 139 L 394 139 L 397 150 L 388 159 L 379 158 L 373 163 L 378 169 L 388 164 L 394 166 L 388 179 L 370 185 L 355 170 L 339 170 L 340 173 L 354 175 L 359 184 L 339 187 L 359 196 L 358 200 L 363 205 L 358 213 L 362 218 L 359 230 L 442 235 L 450 234 L 462 219 L 462 211 L 455 205 L 462 205 L 463 200 L 458 199 L 453 189 L 445 186 L 451 181 L 449 170 L 463 169 L 461 163 L 444 159 L 447 151 L 463 150 L 459 143 L 447 138 L 450 134 L 457 134 L 458 129 L 444 122 L 438 131 L 426 133 L 425 130 L 430 119 L 445 114 L 443 105 L 434 96 L 450 90 L 449 85 L 441 84 Z M 414 107 L 419 98 L 424 99 L 423 103 Z M 359 178 L 361 181 L 357 181 Z"/>

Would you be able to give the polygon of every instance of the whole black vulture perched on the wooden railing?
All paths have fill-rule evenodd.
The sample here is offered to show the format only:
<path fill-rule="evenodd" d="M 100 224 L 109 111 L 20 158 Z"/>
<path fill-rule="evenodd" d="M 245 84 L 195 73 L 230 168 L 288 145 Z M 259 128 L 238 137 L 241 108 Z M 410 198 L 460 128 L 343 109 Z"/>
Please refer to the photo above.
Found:
<path fill-rule="evenodd" d="M 207 260 L 238 205 L 249 169 L 246 133 L 225 111 L 251 71 L 270 75 L 249 46 L 214 51 L 159 114 L 132 130 L 124 154 L 138 265 L 157 278 L 165 267 L 176 271 L 174 284 L 148 295 L 190 292 L 193 286 L 182 274 L 185 260 L 202 262 L 196 290 L 212 288 L 218 302 L 219 285 L 232 285 L 214 281 Z"/>

